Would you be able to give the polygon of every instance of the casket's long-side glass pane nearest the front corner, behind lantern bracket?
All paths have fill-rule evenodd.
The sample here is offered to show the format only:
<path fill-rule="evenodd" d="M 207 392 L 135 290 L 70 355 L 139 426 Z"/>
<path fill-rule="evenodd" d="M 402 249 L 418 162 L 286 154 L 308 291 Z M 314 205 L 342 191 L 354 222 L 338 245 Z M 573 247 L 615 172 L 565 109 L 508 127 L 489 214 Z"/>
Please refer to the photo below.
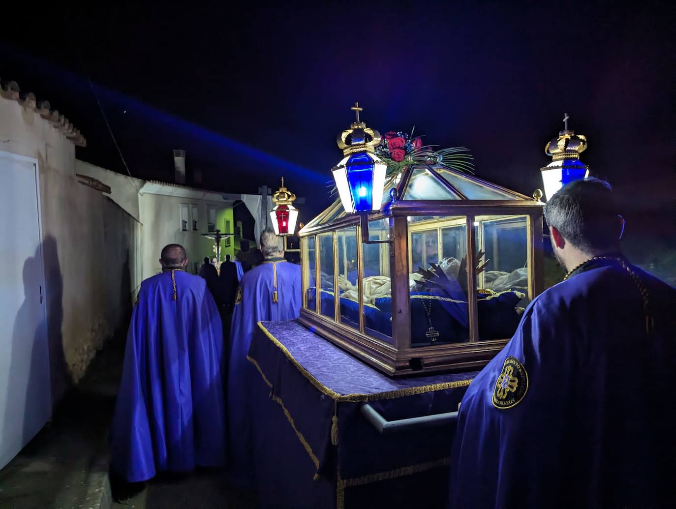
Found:
<path fill-rule="evenodd" d="M 389 219 L 368 223 L 368 240 L 389 239 Z M 364 326 L 366 334 L 392 343 L 392 290 L 389 275 L 389 244 L 363 244 Z"/>

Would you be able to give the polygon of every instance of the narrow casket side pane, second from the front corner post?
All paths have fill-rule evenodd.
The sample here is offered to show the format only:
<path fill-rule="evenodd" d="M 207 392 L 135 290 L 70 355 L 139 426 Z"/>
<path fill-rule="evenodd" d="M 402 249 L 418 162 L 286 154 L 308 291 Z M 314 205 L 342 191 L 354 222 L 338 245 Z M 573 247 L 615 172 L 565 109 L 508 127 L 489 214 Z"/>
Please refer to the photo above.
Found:
<path fill-rule="evenodd" d="M 336 232 L 338 242 L 338 285 L 340 322 L 359 330 L 359 285 L 357 270 L 357 227 Z"/>

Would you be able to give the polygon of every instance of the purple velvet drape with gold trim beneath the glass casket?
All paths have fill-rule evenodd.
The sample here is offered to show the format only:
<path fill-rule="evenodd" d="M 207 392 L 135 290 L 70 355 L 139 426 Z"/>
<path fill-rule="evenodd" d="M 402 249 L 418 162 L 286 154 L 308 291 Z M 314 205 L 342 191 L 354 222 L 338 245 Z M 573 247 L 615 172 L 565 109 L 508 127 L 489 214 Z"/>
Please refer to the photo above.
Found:
<path fill-rule="evenodd" d="M 451 412 L 476 372 L 391 379 L 295 321 L 261 322 L 247 381 L 264 507 L 443 506 L 453 429 L 380 435 L 388 420 Z"/>

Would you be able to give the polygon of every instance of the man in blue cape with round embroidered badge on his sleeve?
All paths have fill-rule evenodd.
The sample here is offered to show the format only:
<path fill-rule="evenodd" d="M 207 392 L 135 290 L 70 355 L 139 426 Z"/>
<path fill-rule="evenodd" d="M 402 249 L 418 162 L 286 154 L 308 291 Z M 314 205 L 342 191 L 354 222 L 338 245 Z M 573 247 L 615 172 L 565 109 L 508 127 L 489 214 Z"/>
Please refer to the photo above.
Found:
<path fill-rule="evenodd" d="M 545 216 L 569 273 L 468 387 L 450 505 L 671 505 L 676 290 L 622 256 L 602 180 L 564 186 Z"/>

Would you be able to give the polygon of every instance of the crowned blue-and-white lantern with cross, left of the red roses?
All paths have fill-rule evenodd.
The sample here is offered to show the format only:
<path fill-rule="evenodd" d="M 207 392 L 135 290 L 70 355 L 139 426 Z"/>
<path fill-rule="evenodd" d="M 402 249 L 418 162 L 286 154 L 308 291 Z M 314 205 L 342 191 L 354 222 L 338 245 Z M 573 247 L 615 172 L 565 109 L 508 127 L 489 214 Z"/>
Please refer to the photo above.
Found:
<path fill-rule="evenodd" d="M 359 120 L 362 108 L 354 103 L 356 122 L 338 135 L 343 159 L 331 169 L 338 194 L 347 214 L 368 214 L 381 210 L 387 164 L 374 153 L 380 133 Z"/>

